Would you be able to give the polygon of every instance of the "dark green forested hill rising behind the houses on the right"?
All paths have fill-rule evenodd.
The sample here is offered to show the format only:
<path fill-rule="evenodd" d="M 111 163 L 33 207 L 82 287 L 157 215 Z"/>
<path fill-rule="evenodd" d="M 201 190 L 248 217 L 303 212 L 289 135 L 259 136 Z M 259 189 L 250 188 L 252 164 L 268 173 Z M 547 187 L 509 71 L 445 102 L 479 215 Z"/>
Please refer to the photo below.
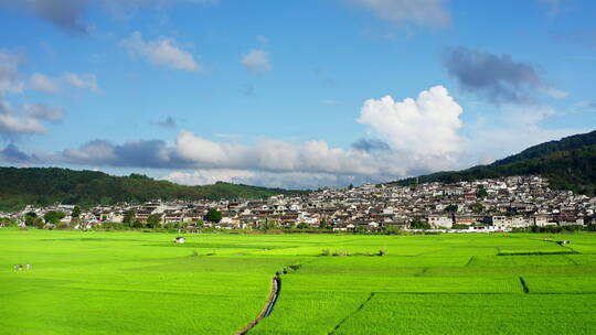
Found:
<path fill-rule="evenodd" d="M 489 165 L 423 175 L 418 177 L 418 182 L 455 183 L 526 174 L 545 176 L 555 188 L 595 195 L 596 131 L 542 143 Z M 405 179 L 395 183 L 412 185 L 416 183 L 416 179 Z"/>

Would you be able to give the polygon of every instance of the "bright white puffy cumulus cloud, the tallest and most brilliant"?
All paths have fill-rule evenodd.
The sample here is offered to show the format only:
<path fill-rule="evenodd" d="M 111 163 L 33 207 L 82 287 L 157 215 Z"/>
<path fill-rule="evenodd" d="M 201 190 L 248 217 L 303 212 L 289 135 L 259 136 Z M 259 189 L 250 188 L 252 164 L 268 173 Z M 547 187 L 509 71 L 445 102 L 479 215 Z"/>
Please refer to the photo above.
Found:
<path fill-rule="evenodd" d="M 391 96 L 366 100 L 358 121 L 382 134 L 394 150 L 451 160 L 462 144 L 461 112 L 447 89 L 435 86 L 416 100 L 395 101 Z"/>

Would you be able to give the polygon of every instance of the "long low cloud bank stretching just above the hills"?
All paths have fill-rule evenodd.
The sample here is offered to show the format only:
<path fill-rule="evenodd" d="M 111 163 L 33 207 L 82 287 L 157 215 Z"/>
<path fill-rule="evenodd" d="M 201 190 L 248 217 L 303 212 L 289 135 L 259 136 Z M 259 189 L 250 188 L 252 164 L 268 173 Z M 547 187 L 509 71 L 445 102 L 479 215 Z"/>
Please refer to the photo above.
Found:
<path fill-rule="evenodd" d="M 155 169 L 227 169 L 275 173 L 308 172 L 331 174 L 395 175 L 403 173 L 391 154 L 329 148 L 323 141 L 299 144 L 260 140 L 253 145 L 215 142 L 181 131 L 174 143 L 140 140 L 114 144 L 95 140 L 77 149 L 44 154 L 47 162 L 93 166 Z"/>

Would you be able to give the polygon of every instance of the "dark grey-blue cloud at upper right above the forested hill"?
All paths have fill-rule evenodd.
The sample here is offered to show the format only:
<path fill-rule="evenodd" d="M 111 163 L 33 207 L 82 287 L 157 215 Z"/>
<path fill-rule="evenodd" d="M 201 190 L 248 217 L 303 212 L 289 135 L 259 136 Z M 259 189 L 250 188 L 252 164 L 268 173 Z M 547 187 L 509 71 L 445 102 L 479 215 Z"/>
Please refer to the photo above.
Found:
<path fill-rule="evenodd" d="M 554 98 L 567 95 L 546 84 L 533 65 L 515 62 L 507 54 L 449 47 L 445 50 L 444 64 L 461 88 L 493 104 L 532 102 L 536 93 Z"/>

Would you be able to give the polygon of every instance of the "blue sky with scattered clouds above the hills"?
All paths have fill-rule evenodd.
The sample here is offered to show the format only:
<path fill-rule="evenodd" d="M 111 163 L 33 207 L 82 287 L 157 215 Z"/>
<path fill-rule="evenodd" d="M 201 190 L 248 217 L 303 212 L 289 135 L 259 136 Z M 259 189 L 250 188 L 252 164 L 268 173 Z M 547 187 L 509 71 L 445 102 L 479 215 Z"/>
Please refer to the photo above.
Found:
<path fill-rule="evenodd" d="M 596 3 L 0 0 L 0 164 L 318 187 L 596 123 Z"/>

